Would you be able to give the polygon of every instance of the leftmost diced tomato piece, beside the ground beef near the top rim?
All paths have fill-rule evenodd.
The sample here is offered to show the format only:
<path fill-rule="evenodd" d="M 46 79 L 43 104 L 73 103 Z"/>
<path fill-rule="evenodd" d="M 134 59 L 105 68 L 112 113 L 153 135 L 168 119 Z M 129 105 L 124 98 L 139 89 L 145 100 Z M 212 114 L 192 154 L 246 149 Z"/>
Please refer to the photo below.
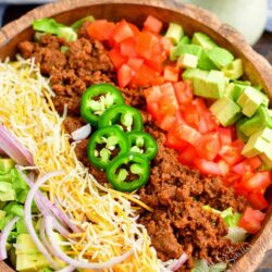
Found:
<path fill-rule="evenodd" d="M 90 38 L 103 41 L 111 38 L 114 27 L 115 24 L 107 20 L 96 20 L 87 27 L 87 33 Z"/>

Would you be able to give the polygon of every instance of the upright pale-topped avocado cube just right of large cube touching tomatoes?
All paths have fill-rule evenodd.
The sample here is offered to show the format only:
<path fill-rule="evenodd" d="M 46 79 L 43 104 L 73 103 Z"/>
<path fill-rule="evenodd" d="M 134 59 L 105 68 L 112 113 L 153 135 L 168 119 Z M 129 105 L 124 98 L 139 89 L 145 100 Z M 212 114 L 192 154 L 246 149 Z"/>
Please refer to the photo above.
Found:
<path fill-rule="evenodd" d="M 223 72 L 212 70 L 210 71 L 206 81 L 207 90 L 210 98 L 221 98 L 224 95 L 226 81 Z M 205 97 L 205 95 L 203 95 Z"/>

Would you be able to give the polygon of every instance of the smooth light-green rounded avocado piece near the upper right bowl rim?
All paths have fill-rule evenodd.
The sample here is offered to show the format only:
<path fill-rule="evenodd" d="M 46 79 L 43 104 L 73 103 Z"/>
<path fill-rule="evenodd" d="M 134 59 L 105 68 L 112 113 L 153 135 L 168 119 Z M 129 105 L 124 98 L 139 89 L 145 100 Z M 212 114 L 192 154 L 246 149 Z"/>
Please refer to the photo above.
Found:
<path fill-rule="evenodd" d="M 234 57 L 226 49 L 214 47 L 208 52 L 209 59 L 214 63 L 218 69 L 223 69 L 232 63 Z"/>

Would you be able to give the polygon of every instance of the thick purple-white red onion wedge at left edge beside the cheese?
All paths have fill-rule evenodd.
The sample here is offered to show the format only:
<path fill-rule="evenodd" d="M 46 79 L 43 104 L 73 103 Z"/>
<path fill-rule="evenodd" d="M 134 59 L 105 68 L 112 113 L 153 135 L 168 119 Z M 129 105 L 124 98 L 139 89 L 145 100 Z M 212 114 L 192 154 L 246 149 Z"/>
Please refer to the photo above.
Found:
<path fill-rule="evenodd" d="M 32 153 L 1 124 L 0 149 L 20 165 L 34 165 Z"/>

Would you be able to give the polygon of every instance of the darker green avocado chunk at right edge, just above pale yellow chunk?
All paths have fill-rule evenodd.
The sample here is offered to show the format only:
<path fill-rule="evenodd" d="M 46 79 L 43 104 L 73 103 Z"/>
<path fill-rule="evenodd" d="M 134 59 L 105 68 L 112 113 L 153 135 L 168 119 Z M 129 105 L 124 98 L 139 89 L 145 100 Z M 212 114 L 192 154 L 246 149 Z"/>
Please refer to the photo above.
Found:
<path fill-rule="evenodd" d="M 272 128 L 272 119 L 269 114 L 268 108 L 264 106 L 260 106 L 254 116 L 245 119 L 244 123 L 240 123 L 239 125 L 240 131 L 247 136 L 250 136 L 264 127 Z"/>

